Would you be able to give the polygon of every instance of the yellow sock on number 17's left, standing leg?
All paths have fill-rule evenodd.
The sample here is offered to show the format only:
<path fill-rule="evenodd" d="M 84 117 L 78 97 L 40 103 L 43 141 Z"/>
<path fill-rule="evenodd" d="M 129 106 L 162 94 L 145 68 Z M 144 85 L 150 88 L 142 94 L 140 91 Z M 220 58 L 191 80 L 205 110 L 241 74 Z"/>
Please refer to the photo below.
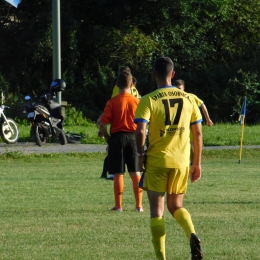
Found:
<path fill-rule="evenodd" d="M 165 260 L 165 225 L 162 217 L 151 218 L 150 228 L 152 232 L 152 242 L 156 258 L 158 260 Z"/>

